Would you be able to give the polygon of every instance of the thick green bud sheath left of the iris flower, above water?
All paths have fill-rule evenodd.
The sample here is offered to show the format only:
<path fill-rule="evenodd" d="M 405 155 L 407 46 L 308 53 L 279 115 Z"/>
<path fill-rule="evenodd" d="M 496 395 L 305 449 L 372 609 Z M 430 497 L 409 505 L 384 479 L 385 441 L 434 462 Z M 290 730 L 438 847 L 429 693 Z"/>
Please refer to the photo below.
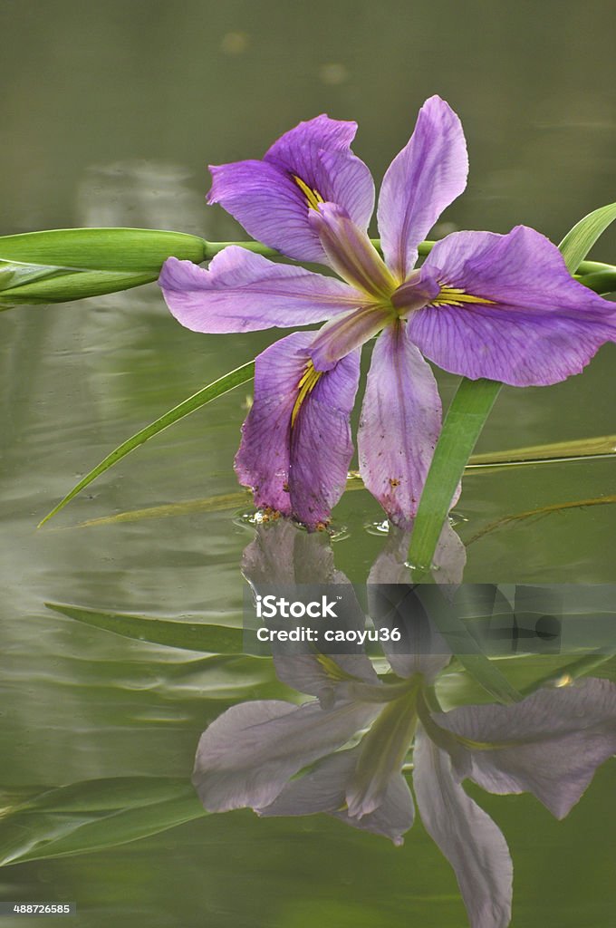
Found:
<path fill-rule="evenodd" d="M 63 303 L 156 280 L 174 256 L 199 263 L 207 243 L 158 229 L 50 229 L 0 238 L 0 302 Z"/>

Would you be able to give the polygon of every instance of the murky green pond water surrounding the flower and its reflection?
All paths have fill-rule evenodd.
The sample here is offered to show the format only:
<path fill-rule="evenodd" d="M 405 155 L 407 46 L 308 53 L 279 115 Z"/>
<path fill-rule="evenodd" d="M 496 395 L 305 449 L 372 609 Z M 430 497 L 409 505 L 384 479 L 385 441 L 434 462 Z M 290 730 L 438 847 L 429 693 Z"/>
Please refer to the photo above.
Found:
<path fill-rule="evenodd" d="M 242 238 L 204 205 L 208 162 L 260 157 L 327 111 L 359 122 L 354 149 L 379 178 L 418 107 L 439 93 L 465 125 L 471 173 L 434 237 L 524 223 L 558 241 L 614 199 L 614 19 L 601 0 L 5 0 L 2 234 L 143 226 Z M 613 262 L 615 245 L 612 231 L 590 257 Z M 5 816 L 4 828 L 0 818 L 0 852 L 13 863 L 0 870 L 0 900 L 75 900 L 72 923 L 84 928 L 465 924 L 455 876 L 418 821 L 394 847 L 326 816 L 199 816 L 189 778 L 202 730 L 236 703 L 293 698 L 270 661 L 130 640 L 45 605 L 241 625 L 240 564 L 254 528 L 232 461 L 249 387 L 162 433 L 36 525 L 110 449 L 250 360 L 271 333 L 191 333 L 155 285 L 19 307 L 0 327 L 0 806 L 101 781 L 72 806 L 58 798 L 17 822 Z M 581 377 L 505 388 L 478 450 L 616 432 L 615 362 L 608 345 Z M 446 403 L 457 381 L 438 379 Z M 465 580 L 614 582 L 615 510 L 600 502 L 613 502 L 613 472 L 610 458 L 469 472 L 456 507 L 456 529 L 472 542 Z M 386 544 L 375 530 L 382 518 L 361 489 L 334 512 L 336 567 L 353 583 L 366 583 Z M 520 662 L 517 685 L 557 664 Z M 615 679 L 616 664 L 592 676 Z M 477 696 L 467 685 L 450 675 L 449 705 Z M 609 761 L 563 821 L 528 793 L 467 784 L 507 837 L 515 928 L 614 924 L 615 780 Z M 146 801 L 148 790 L 159 792 Z M 36 844 L 36 859 L 19 861 L 60 833 L 66 856 Z"/>

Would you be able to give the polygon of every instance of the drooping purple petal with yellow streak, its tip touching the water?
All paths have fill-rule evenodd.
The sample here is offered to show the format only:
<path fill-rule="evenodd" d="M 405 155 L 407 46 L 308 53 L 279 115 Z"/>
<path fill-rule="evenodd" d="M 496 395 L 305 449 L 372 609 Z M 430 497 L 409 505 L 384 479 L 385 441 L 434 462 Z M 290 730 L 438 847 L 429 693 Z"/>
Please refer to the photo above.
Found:
<path fill-rule="evenodd" d="M 239 481 L 252 488 L 257 506 L 293 515 L 309 528 L 327 522 L 344 492 L 359 380 L 353 353 L 302 392 L 313 338 L 294 332 L 256 359 L 254 403 L 236 457 Z"/>

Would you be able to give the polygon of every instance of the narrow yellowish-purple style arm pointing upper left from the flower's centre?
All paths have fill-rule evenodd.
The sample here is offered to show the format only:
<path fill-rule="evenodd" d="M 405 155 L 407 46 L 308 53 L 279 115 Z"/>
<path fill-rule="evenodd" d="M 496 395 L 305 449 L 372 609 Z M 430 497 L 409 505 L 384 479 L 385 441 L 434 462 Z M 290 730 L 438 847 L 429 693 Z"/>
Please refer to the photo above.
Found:
<path fill-rule="evenodd" d="M 319 203 L 309 216 L 327 263 L 371 301 L 387 301 L 397 281 L 366 232 L 336 203 Z"/>

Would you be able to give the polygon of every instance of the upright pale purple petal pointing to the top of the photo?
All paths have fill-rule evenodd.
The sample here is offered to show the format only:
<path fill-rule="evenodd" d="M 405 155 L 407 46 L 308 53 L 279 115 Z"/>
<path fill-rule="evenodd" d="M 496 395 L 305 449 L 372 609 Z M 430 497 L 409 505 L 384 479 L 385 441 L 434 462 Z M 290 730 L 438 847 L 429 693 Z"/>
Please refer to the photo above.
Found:
<path fill-rule="evenodd" d="M 385 261 L 402 283 L 445 207 L 467 186 L 462 125 L 441 97 L 426 100 L 415 131 L 391 161 L 379 194 L 379 232 Z"/>

